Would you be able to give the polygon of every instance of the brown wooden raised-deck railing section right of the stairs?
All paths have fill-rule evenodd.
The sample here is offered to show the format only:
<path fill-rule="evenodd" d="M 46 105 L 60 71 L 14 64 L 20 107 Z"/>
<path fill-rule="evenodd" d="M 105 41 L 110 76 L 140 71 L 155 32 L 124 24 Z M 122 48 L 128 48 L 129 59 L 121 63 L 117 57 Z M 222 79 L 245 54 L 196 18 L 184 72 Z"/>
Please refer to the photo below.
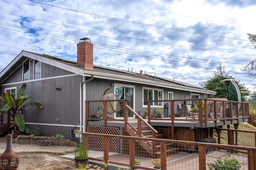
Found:
<path fill-rule="evenodd" d="M 249 119 L 249 104 L 247 102 L 187 99 L 151 100 L 147 103 L 149 123 L 152 120 L 159 120 L 156 116 L 156 108 L 160 108 L 163 111 L 162 115 L 164 116 L 162 116 L 161 120 L 171 120 L 172 126 L 174 126 L 174 121 L 194 121 L 199 123 L 199 127 L 208 127 L 208 121 L 214 121 L 215 126 L 218 126 L 218 121 L 223 121 L 224 125 L 226 125 L 227 121 L 233 124 L 234 120 L 242 119 L 245 121 L 245 119 Z M 190 112 L 196 105 L 198 106 L 198 111 Z M 166 112 L 169 113 L 167 114 Z"/>

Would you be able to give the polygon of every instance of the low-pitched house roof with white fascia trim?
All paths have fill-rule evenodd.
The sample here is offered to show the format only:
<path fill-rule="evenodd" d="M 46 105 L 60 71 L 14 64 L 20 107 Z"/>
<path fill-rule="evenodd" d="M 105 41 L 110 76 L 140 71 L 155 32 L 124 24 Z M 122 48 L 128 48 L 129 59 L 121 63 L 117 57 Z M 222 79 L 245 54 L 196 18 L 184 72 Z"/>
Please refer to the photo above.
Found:
<path fill-rule="evenodd" d="M 187 84 L 179 81 L 174 81 L 168 78 L 155 77 L 147 74 L 140 74 L 136 72 L 128 72 L 116 68 L 110 68 L 106 66 L 99 66 L 94 64 L 94 69 L 86 69 L 76 65 L 76 61 L 70 59 L 64 59 L 57 56 L 32 53 L 28 51 L 22 51 L 2 72 L 0 72 L 0 83 L 2 83 L 12 72 L 14 72 L 26 59 L 31 58 L 42 63 L 50 64 L 58 68 L 62 68 L 73 72 L 81 76 L 92 76 L 94 78 L 102 78 L 108 80 L 120 80 L 125 82 L 134 82 L 139 84 L 147 84 L 158 87 L 172 88 L 177 90 L 184 90 L 190 92 L 216 94 L 216 92 L 207 90 L 199 86 Z"/>

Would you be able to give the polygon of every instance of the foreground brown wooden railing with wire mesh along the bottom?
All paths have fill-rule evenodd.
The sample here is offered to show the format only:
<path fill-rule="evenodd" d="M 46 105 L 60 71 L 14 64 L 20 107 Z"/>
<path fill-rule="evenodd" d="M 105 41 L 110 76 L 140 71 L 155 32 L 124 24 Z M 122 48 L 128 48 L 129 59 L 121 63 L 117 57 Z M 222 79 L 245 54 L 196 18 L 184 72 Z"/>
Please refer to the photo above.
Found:
<path fill-rule="evenodd" d="M 117 169 L 117 167 L 125 166 L 126 168 L 134 169 L 140 168 L 144 170 L 153 170 L 152 159 L 160 158 L 161 169 L 196 169 L 196 170 L 206 170 L 208 169 L 208 163 L 216 161 L 217 158 L 225 159 L 228 155 L 231 158 L 235 158 L 241 165 L 241 170 L 255 170 L 256 169 L 256 148 L 255 147 L 241 147 L 232 145 L 221 145 L 213 143 L 199 143 L 199 142 L 189 142 L 189 141 L 176 141 L 168 139 L 152 139 L 152 138 L 142 138 L 142 137 L 130 137 L 122 135 L 106 135 L 106 134 L 95 134 L 95 133 L 82 133 L 84 145 L 90 136 L 97 136 L 98 138 L 103 138 L 103 142 L 99 145 L 104 146 L 103 152 L 93 152 L 89 151 L 89 160 L 99 161 L 98 164 L 102 166 L 103 161 L 108 162 L 109 166 Z M 109 148 L 115 147 L 109 145 L 109 140 L 117 138 L 122 141 L 120 144 L 120 152 L 110 153 Z M 159 156 L 146 155 L 141 149 L 140 145 L 136 144 L 136 141 L 154 141 L 160 144 L 160 154 Z M 166 156 L 166 150 L 169 146 L 175 146 L 178 148 L 173 151 L 172 155 Z M 187 147 L 187 150 L 180 150 L 179 148 Z M 90 147 L 90 146 L 89 146 Z M 134 165 L 134 160 L 140 160 L 141 165 Z M 96 164 L 96 163 L 95 163 Z M 115 166 L 115 168 L 113 168 Z M 226 167 L 228 168 L 228 167 Z"/>

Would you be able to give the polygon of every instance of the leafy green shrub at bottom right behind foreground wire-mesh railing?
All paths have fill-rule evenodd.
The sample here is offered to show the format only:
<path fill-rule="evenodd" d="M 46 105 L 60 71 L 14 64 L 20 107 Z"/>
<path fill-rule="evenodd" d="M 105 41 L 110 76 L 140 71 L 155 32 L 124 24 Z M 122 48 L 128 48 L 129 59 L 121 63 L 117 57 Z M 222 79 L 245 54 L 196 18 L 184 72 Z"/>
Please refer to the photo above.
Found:
<path fill-rule="evenodd" d="M 207 163 L 210 170 L 239 170 L 241 163 L 235 158 L 231 158 L 230 154 L 225 158 L 218 158 L 213 163 Z"/>

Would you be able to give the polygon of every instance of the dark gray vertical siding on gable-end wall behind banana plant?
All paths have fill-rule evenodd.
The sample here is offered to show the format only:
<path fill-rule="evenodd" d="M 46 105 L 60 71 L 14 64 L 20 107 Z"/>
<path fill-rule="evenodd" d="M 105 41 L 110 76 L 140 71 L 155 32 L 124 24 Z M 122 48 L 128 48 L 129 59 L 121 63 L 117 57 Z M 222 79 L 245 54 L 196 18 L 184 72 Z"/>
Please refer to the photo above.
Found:
<path fill-rule="evenodd" d="M 31 60 L 30 80 L 33 78 L 33 64 L 34 62 Z M 73 74 L 45 63 L 42 63 L 41 68 L 42 78 Z M 39 102 L 44 106 L 44 109 L 36 106 L 26 107 L 24 111 L 26 123 L 48 124 L 40 126 L 26 124 L 26 127 L 30 127 L 30 129 L 39 127 L 46 135 L 60 133 L 72 139 L 71 129 L 80 122 L 80 83 L 82 81 L 82 76 L 76 75 L 26 82 L 27 86 L 24 94 L 32 96 L 32 99 L 28 99 L 26 102 Z M 15 84 L 15 82 L 17 83 Z M 23 84 L 22 65 L 2 84 L 6 83 L 13 84 L 1 86 L 1 94 L 4 93 L 5 88 L 9 87 L 16 87 L 18 93 Z M 56 88 L 60 88 L 60 90 L 56 90 Z M 59 122 L 57 118 L 60 119 Z M 70 125 L 71 127 L 52 126 L 50 124 Z"/>

